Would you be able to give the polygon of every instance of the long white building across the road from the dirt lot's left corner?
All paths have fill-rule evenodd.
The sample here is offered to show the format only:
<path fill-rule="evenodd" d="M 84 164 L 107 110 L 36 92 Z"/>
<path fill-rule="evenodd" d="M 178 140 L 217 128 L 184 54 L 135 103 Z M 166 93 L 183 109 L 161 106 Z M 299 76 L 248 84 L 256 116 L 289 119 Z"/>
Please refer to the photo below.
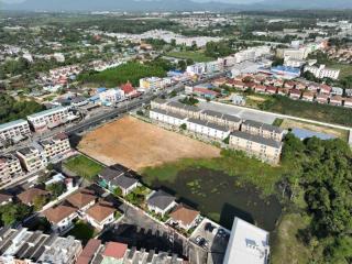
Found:
<path fill-rule="evenodd" d="M 56 107 L 26 117 L 34 131 L 53 129 L 77 117 L 69 112 L 68 107 Z"/>

